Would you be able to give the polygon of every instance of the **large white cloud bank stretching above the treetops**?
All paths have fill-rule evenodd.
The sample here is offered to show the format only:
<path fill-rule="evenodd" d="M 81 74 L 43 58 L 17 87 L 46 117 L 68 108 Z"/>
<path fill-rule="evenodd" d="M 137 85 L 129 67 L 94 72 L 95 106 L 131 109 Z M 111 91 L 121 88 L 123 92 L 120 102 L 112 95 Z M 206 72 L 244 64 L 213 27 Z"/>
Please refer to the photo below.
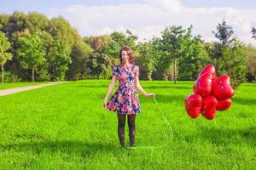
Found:
<path fill-rule="evenodd" d="M 233 27 L 235 36 L 252 42 L 251 29 L 256 26 L 256 10 L 235 8 L 187 8 L 180 0 L 149 0 L 143 3 L 116 5 L 73 5 L 50 9 L 49 17 L 61 14 L 78 29 L 82 36 L 100 35 L 112 31 L 131 29 L 139 41 L 160 36 L 166 26 L 193 25 L 193 33 L 201 34 L 206 41 L 214 40 L 212 31 L 222 20 Z"/>

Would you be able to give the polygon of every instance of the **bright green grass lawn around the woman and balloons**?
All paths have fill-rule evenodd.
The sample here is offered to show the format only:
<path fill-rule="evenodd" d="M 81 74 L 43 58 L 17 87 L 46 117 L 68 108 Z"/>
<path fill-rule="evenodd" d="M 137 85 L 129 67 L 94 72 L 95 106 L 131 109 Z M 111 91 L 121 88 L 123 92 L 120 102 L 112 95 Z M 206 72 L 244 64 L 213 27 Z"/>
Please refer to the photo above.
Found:
<path fill-rule="evenodd" d="M 109 82 L 70 82 L 0 97 L 0 168 L 255 169 L 255 84 L 242 84 L 230 110 L 208 121 L 184 110 L 193 82 L 142 81 L 174 133 L 154 100 L 140 95 L 136 145 L 166 145 L 129 150 L 119 147 L 116 114 L 102 107 Z"/>

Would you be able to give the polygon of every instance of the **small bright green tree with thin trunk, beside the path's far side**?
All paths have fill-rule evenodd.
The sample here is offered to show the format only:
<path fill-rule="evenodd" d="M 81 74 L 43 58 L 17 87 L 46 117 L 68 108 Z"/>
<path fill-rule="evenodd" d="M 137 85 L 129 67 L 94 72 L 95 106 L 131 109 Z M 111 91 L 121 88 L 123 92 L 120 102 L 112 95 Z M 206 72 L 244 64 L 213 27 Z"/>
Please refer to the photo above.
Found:
<path fill-rule="evenodd" d="M 25 36 L 19 37 L 18 56 L 20 64 L 25 69 L 32 69 L 32 82 L 35 82 L 34 72 L 39 65 L 45 62 L 44 42 L 38 34 L 26 32 Z"/>

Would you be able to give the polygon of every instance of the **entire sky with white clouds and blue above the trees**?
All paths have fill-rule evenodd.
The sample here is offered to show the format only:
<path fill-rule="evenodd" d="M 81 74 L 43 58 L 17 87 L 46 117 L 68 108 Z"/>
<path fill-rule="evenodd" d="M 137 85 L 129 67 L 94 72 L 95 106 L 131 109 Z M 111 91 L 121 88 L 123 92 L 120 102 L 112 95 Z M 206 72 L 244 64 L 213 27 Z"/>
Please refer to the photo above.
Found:
<path fill-rule="evenodd" d="M 206 42 L 215 41 L 212 31 L 222 20 L 232 26 L 234 36 L 256 45 L 252 27 L 256 27 L 255 0 L 0 0 L 0 13 L 15 10 L 37 11 L 49 19 L 59 15 L 67 19 L 82 37 L 133 31 L 138 41 L 160 37 L 166 26 L 193 26 Z"/>

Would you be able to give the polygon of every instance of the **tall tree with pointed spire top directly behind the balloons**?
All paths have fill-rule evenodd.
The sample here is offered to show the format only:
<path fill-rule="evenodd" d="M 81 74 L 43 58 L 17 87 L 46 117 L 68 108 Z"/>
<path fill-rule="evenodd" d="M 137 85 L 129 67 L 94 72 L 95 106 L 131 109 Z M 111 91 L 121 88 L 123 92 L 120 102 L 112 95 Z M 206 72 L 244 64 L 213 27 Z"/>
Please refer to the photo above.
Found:
<path fill-rule="evenodd" d="M 232 37 L 234 31 L 224 20 L 212 33 L 218 38 L 218 41 L 213 42 L 213 63 L 218 73 L 228 74 L 233 88 L 237 88 L 246 76 L 245 47 L 236 37 Z"/>

